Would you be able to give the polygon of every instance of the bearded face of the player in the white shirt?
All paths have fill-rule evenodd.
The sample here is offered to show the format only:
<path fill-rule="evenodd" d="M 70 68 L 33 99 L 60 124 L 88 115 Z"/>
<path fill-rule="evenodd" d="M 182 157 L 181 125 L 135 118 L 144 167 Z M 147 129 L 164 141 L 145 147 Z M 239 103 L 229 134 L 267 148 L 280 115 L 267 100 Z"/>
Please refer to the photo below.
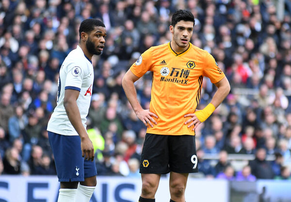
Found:
<path fill-rule="evenodd" d="M 104 27 L 95 27 L 86 41 L 86 48 L 93 55 L 100 55 L 105 44 L 106 30 Z"/>

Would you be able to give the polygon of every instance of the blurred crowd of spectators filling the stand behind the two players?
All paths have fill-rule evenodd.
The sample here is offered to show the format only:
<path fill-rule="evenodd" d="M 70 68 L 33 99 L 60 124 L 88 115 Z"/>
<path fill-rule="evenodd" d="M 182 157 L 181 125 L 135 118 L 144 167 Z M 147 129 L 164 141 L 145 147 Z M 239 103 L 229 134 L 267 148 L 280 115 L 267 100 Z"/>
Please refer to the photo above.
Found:
<path fill-rule="evenodd" d="M 102 55 L 92 59 L 95 81 L 87 121 L 97 172 L 140 177 L 146 127 L 121 80 L 141 53 L 171 40 L 169 25 L 177 9 L 192 11 L 191 43 L 213 55 L 232 88 L 196 130 L 199 173 L 229 180 L 290 179 L 290 0 L 2 0 L 0 173 L 56 174 L 46 127 L 56 106 L 59 69 L 78 45 L 81 21 L 98 18 L 107 38 Z M 148 109 L 151 74 L 135 85 Z M 214 91 L 204 78 L 197 109 Z M 235 169 L 228 154 L 256 158 Z M 205 155 L 219 160 L 213 165 Z M 267 161 L 266 155 L 275 160 Z"/>

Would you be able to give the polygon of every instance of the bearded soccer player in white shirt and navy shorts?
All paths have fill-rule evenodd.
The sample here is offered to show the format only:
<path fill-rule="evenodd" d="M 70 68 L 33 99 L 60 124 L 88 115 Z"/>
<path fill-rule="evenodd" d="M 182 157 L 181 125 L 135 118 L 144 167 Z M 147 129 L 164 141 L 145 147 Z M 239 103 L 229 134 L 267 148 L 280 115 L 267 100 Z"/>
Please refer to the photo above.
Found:
<path fill-rule="evenodd" d="M 97 19 L 86 19 L 81 22 L 79 35 L 79 45 L 61 66 L 57 106 L 48 124 L 61 183 L 58 202 L 89 202 L 97 184 L 94 147 L 85 122 L 94 81 L 91 59 L 104 48 L 105 25 Z"/>

